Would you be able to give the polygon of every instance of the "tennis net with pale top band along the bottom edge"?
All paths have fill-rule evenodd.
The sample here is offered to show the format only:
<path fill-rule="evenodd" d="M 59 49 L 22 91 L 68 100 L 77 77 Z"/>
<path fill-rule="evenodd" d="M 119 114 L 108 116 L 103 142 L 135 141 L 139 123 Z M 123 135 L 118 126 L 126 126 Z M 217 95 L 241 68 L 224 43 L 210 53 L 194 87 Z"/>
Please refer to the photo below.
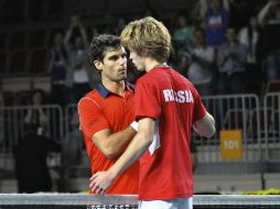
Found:
<path fill-rule="evenodd" d="M 279 195 L 195 195 L 194 209 L 280 209 Z M 1 194 L 0 209 L 134 209 L 137 196 Z"/>

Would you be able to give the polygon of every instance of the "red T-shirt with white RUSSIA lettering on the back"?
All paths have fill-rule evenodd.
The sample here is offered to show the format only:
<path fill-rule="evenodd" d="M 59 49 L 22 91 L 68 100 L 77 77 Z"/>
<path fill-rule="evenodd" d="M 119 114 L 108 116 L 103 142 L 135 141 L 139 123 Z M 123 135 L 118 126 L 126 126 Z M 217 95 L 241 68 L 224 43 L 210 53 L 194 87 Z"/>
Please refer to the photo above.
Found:
<path fill-rule="evenodd" d="M 154 67 L 138 79 L 136 118 L 155 119 L 158 130 L 157 146 L 140 157 L 140 200 L 192 197 L 192 125 L 205 113 L 194 86 L 170 67 Z"/>

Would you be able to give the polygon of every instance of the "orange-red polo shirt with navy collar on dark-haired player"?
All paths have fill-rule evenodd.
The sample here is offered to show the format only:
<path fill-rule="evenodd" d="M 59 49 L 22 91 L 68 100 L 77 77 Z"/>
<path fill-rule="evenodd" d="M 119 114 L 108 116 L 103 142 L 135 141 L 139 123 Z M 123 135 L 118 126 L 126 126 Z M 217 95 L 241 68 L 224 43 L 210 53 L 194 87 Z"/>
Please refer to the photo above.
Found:
<path fill-rule="evenodd" d="M 78 103 L 80 130 L 84 134 L 91 174 L 107 170 L 116 160 L 106 158 L 91 140 L 101 130 L 112 133 L 125 130 L 133 121 L 133 86 L 126 84 L 125 97 L 108 91 L 101 84 L 84 96 Z M 138 194 L 139 163 L 131 165 L 119 176 L 106 194 Z"/>

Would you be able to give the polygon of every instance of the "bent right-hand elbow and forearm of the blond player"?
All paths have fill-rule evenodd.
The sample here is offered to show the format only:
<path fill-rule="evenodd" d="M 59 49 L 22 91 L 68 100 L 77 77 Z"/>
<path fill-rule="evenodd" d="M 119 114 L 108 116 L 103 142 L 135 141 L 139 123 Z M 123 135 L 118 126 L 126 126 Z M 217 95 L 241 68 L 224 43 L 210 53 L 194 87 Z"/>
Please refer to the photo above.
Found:
<path fill-rule="evenodd" d="M 214 118 L 206 112 L 206 114 L 193 125 L 196 133 L 204 138 L 211 138 L 216 132 Z"/>

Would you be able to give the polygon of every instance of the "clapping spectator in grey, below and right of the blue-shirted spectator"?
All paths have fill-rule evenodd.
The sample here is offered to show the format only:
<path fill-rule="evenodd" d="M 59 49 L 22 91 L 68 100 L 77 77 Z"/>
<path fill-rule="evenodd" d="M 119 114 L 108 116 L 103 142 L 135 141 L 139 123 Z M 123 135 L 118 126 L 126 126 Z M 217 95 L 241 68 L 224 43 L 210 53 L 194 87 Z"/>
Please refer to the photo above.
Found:
<path fill-rule="evenodd" d="M 237 40 L 235 29 L 227 29 L 227 43 L 218 47 L 218 94 L 241 94 L 247 47 Z"/>

